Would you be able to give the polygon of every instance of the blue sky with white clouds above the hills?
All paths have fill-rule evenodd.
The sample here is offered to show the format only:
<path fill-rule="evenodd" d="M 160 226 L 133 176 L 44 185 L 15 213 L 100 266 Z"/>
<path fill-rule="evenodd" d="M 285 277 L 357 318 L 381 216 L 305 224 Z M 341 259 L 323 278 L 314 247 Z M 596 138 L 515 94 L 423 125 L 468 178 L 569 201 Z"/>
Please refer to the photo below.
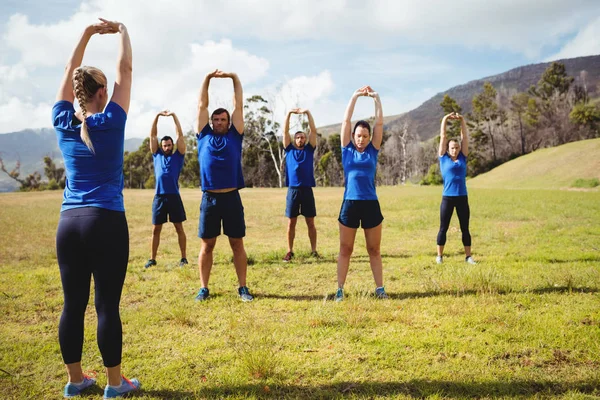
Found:
<path fill-rule="evenodd" d="M 600 54 L 598 0 L 2 0 L 0 133 L 51 126 L 65 62 L 97 17 L 131 36 L 127 137 L 146 136 L 165 108 L 191 129 L 215 68 L 237 72 L 245 97 L 263 95 L 280 118 L 300 106 L 323 126 L 366 84 L 386 115 L 399 114 L 469 80 Z M 116 37 L 94 36 L 84 64 L 113 82 L 117 50 Z M 210 108 L 230 106 L 231 94 L 230 80 L 214 81 Z M 355 117 L 372 113 L 360 99 Z M 161 119 L 159 130 L 171 125 Z"/>

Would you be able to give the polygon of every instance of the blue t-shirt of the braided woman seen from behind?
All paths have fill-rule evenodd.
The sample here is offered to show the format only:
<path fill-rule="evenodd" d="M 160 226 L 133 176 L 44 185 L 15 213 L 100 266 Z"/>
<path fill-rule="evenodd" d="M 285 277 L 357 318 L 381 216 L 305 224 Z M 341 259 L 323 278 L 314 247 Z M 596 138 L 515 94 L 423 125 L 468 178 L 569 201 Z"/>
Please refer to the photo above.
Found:
<path fill-rule="evenodd" d="M 52 107 L 52 124 L 65 160 L 67 176 L 61 212 L 79 207 L 125 211 L 123 205 L 123 144 L 127 114 L 110 102 L 103 113 L 86 118 L 95 154 L 80 137 L 81 123 L 73 103 Z"/>

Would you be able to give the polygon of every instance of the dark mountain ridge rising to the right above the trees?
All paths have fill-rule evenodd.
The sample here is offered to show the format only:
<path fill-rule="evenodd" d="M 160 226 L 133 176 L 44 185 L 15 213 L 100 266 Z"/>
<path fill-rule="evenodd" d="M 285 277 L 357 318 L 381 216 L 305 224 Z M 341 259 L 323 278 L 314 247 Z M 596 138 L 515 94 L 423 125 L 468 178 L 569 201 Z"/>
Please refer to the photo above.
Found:
<path fill-rule="evenodd" d="M 600 55 L 589 57 L 569 58 L 557 60 L 565 64 L 567 74 L 575 78 L 574 84 L 581 84 L 580 73 L 587 71 L 587 88 L 592 100 L 600 101 Z M 419 135 L 420 140 L 425 141 L 439 134 L 440 121 L 442 117 L 442 108 L 440 103 L 445 94 L 448 94 L 462 107 L 466 114 L 472 110 L 473 96 L 481 92 L 483 83 L 490 82 L 498 92 L 506 91 L 511 95 L 516 92 L 524 92 L 531 85 L 536 85 L 542 74 L 552 62 L 531 64 L 523 67 L 511 69 L 498 75 L 488 76 L 486 78 L 470 81 L 463 85 L 455 86 L 444 92 L 438 93 L 419 107 L 408 113 L 392 115 L 386 117 L 384 126 L 386 129 L 393 128 L 402 124 L 406 118 L 410 122 L 414 131 Z M 340 131 L 341 123 L 327 125 L 318 128 L 319 133 L 329 136 L 331 133 Z"/>

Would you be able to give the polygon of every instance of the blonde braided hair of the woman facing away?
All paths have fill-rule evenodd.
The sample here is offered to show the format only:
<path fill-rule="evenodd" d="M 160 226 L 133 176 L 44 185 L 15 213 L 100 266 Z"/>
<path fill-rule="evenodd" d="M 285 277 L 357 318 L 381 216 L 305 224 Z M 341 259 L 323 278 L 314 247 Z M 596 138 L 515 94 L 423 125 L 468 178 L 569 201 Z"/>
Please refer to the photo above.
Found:
<path fill-rule="evenodd" d="M 83 114 L 83 121 L 81 123 L 81 140 L 87 146 L 92 153 L 94 151 L 94 144 L 90 138 L 88 127 L 85 122 L 87 117 L 86 104 L 91 99 L 98 89 L 106 86 L 106 76 L 98 68 L 94 67 L 79 67 L 73 71 L 73 90 L 75 91 L 75 97 L 81 108 Z"/>

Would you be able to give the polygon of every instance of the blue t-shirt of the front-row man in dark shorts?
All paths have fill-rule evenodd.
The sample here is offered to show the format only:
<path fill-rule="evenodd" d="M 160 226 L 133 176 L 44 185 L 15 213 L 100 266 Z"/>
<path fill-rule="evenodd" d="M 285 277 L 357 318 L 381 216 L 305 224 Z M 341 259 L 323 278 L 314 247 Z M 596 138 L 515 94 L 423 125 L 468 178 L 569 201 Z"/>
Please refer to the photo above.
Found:
<path fill-rule="evenodd" d="M 243 188 L 243 135 L 233 124 L 225 134 L 214 133 L 209 124 L 196 135 L 202 190 Z"/>

